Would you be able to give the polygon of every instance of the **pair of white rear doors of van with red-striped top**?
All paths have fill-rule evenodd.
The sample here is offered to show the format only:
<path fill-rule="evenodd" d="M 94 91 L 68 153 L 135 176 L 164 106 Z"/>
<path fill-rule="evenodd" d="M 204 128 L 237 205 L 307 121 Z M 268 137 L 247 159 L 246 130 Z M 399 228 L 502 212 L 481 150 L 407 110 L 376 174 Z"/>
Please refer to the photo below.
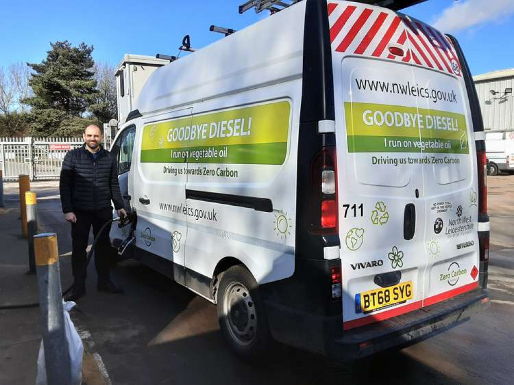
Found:
<path fill-rule="evenodd" d="M 467 266 L 478 260 L 476 232 L 447 237 L 444 229 L 459 205 L 466 219 L 452 226 L 476 222 L 469 199 L 464 213 L 476 165 L 464 83 L 452 71 L 458 62 L 439 68 L 434 60 L 447 47 L 437 52 L 415 21 L 391 10 L 329 2 L 328 11 L 343 318 L 351 329 L 419 309 L 448 285 L 435 282 L 442 269 L 460 277 L 456 287 L 474 281 Z M 464 246 L 466 237 L 473 244 Z"/>

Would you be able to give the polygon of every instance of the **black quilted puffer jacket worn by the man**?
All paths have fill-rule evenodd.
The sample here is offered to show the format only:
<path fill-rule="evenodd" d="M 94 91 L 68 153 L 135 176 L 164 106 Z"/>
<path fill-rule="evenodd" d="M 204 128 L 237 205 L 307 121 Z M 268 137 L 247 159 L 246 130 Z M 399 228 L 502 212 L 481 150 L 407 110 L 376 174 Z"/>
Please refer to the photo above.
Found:
<path fill-rule="evenodd" d="M 69 151 L 62 164 L 59 190 L 63 213 L 112 207 L 111 200 L 116 209 L 123 208 L 116 157 L 103 148 L 96 162 L 85 145 Z"/>

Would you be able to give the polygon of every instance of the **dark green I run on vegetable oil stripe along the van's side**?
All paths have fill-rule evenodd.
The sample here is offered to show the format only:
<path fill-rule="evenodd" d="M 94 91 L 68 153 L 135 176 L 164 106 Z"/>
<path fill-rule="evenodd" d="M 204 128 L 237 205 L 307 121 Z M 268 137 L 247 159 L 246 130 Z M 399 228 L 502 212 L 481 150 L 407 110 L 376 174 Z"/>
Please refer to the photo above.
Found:
<path fill-rule="evenodd" d="M 216 156 L 214 155 L 216 151 Z M 189 152 L 187 159 L 183 155 Z M 198 153 L 196 153 L 198 152 Z M 226 152 L 226 155 L 225 155 Z M 235 144 L 141 150 L 142 163 L 283 164 L 287 143 Z"/>

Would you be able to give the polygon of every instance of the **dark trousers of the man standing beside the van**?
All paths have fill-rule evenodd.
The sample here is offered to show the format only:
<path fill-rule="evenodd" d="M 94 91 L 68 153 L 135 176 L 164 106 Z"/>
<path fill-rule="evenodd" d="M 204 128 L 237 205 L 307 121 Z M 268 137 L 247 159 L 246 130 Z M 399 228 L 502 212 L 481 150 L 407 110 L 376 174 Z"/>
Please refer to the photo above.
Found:
<path fill-rule="evenodd" d="M 93 226 L 93 235 L 96 238 L 100 228 L 112 216 L 112 208 L 105 208 L 96 211 L 75 211 L 77 223 L 72 223 L 72 271 L 75 279 L 76 287 L 84 287 L 86 272 L 84 264 L 86 262 L 86 247 L 89 239 L 89 232 Z M 109 282 L 109 266 L 111 242 L 109 241 L 109 232 L 111 224 L 107 226 L 98 238 L 95 250 L 95 267 L 98 274 L 98 283 Z"/>

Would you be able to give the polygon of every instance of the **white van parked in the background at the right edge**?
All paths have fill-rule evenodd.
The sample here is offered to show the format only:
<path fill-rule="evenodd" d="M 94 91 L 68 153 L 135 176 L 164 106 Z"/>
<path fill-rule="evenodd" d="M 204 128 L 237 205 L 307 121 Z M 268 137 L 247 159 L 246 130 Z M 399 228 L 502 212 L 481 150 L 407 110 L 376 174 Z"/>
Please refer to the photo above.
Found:
<path fill-rule="evenodd" d="M 514 131 L 486 132 L 487 174 L 514 171 Z"/>

